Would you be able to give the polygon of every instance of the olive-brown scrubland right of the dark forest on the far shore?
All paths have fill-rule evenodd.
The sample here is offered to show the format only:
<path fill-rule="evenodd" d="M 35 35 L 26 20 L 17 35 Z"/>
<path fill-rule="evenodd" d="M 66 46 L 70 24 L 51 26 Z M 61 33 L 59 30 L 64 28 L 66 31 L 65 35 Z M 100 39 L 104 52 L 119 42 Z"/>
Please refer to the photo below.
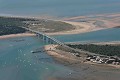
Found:
<path fill-rule="evenodd" d="M 68 31 L 74 29 L 73 25 L 65 22 L 43 19 L 39 21 L 29 22 L 28 25 L 28 27 L 33 30 L 42 31 L 46 33 Z"/>

